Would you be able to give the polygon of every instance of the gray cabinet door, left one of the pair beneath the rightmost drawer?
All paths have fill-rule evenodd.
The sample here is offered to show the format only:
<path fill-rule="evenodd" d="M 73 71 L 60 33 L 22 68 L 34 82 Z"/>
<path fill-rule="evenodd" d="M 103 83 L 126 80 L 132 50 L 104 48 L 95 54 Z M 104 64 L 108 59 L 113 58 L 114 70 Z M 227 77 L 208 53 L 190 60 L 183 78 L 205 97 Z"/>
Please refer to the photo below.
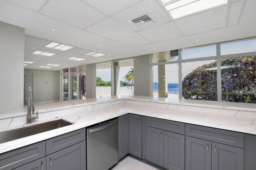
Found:
<path fill-rule="evenodd" d="M 210 141 L 186 136 L 186 170 L 211 170 Z"/>

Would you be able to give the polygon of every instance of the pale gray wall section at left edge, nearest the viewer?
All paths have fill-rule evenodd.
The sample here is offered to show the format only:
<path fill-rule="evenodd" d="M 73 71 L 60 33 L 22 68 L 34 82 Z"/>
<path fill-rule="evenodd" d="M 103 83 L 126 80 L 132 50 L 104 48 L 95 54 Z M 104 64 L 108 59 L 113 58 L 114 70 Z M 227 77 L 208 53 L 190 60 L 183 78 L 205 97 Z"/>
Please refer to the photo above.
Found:
<path fill-rule="evenodd" d="M 23 107 L 24 31 L 0 21 L 0 113 Z"/>

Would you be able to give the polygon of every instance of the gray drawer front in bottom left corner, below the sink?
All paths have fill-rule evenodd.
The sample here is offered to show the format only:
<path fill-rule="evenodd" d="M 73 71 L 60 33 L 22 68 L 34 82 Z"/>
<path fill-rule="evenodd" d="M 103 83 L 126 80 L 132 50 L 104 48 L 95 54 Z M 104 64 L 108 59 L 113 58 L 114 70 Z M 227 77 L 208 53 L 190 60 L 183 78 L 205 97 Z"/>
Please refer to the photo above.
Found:
<path fill-rule="evenodd" d="M 45 156 L 45 141 L 0 154 L 0 170 L 10 170 Z"/>

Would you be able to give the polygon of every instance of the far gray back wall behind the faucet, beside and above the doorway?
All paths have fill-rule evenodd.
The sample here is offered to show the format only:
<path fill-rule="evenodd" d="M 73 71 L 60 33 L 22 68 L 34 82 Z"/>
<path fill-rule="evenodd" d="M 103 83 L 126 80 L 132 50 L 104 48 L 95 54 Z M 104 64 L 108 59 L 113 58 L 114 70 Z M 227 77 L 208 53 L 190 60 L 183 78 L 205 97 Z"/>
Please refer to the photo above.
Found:
<path fill-rule="evenodd" d="M 60 101 L 60 71 L 25 68 L 24 73 L 33 74 L 34 104 Z"/>

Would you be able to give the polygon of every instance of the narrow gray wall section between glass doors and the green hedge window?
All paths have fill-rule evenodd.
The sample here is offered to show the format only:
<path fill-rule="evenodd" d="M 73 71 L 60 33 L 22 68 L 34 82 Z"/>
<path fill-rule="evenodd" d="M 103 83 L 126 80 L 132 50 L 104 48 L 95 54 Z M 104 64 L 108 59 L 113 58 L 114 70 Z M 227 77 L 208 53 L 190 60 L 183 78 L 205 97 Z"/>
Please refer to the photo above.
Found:
<path fill-rule="evenodd" d="M 96 98 L 96 64 L 86 65 L 86 99 Z"/>

